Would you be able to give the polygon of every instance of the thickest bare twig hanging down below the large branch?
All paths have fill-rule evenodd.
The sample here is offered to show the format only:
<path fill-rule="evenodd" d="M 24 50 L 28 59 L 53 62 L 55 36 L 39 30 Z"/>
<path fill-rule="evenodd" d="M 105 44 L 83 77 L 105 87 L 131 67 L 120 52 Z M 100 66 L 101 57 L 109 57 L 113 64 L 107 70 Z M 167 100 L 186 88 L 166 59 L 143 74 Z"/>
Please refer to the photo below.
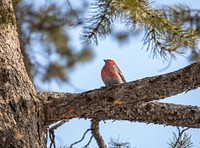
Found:
<path fill-rule="evenodd" d="M 106 148 L 106 145 L 104 143 L 104 140 L 102 136 L 99 133 L 99 120 L 93 119 L 91 123 L 91 128 L 92 128 L 92 135 L 97 141 L 97 144 L 100 148 Z"/>

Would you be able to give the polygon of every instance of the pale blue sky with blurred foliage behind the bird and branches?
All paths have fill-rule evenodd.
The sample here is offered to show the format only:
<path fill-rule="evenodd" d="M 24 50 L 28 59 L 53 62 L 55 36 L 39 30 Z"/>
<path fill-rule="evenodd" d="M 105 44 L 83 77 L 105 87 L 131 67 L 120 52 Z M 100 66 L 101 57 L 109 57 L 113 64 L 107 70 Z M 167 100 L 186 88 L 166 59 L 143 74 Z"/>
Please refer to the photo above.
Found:
<path fill-rule="evenodd" d="M 194 48 L 185 46 L 160 55 L 144 44 L 145 28 L 116 20 L 115 25 L 91 44 L 84 40 L 88 18 L 96 13 L 94 0 L 16 0 L 15 9 L 25 65 L 39 91 L 81 93 L 104 86 L 100 72 L 103 59 L 113 59 L 128 82 L 179 70 L 200 61 L 199 40 Z M 151 5 L 163 10 L 175 23 L 183 27 L 200 28 L 200 1 L 156 0 Z M 140 21 L 140 20 L 139 20 Z M 128 28 L 128 29 L 127 29 Z M 98 44 L 97 44 L 98 41 Z M 148 50 L 147 50 L 148 49 Z M 200 106 L 199 88 L 161 102 Z M 101 101 L 101 100 L 99 100 Z M 90 119 L 72 119 L 56 131 L 58 147 L 68 147 L 90 128 Z M 128 121 L 105 121 L 100 133 L 105 142 L 129 142 L 130 147 L 160 148 L 173 138 L 177 128 Z M 195 148 L 200 147 L 200 130 L 189 129 Z M 83 147 L 90 138 L 74 147 Z M 111 140 L 112 139 L 112 140 Z M 90 147 L 97 147 L 93 139 Z"/>

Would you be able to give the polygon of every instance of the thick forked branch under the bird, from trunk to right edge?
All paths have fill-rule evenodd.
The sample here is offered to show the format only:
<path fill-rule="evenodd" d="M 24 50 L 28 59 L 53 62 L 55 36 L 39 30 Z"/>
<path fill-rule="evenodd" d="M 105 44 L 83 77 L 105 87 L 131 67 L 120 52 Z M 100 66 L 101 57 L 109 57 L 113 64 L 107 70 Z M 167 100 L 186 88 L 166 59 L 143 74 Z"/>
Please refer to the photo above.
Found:
<path fill-rule="evenodd" d="M 63 118 L 129 120 L 173 126 L 200 127 L 200 109 L 164 103 L 145 103 L 200 86 L 200 63 L 176 72 L 82 94 L 39 93 L 46 125 Z"/>

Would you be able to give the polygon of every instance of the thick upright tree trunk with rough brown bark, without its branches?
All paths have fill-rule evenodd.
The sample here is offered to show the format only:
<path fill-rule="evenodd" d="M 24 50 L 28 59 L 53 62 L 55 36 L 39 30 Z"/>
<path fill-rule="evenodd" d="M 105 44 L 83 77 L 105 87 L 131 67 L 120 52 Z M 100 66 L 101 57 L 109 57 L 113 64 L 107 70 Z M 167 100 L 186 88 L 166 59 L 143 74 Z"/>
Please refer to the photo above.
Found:
<path fill-rule="evenodd" d="M 12 0 L 0 1 L 0 147 L 45 147 L 37 93 L 25 71 Z"/>

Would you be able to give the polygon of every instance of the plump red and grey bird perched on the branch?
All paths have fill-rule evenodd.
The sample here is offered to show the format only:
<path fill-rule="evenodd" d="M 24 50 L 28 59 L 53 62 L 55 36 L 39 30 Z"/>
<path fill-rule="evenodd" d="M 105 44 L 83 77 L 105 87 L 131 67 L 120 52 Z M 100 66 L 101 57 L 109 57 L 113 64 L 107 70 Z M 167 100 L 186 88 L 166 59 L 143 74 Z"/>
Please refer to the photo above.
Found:
<path fill-rule="evenodd" d="M 114 60 L 104 59 L 104 62 L 105 65 L 101 70 L 101 78 L 106 86 L 126 82 L 126 79 Z"/>

